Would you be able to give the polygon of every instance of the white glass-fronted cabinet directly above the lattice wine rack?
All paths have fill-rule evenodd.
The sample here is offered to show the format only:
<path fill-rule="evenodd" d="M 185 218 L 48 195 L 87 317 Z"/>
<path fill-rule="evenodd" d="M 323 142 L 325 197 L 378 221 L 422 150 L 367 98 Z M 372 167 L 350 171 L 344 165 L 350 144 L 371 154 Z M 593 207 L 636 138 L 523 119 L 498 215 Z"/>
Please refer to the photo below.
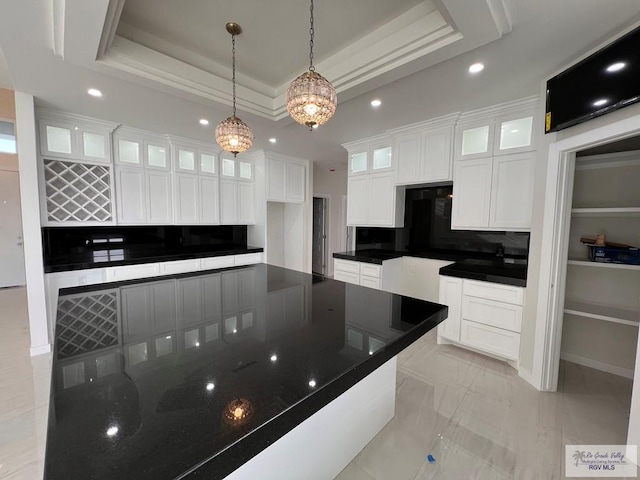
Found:
<path fill-rule="evenodd" d="M 78 115 L 40 111 L 40 153 L 47 158 L 111 163 L 111 132 L 115 127 Z"/>

